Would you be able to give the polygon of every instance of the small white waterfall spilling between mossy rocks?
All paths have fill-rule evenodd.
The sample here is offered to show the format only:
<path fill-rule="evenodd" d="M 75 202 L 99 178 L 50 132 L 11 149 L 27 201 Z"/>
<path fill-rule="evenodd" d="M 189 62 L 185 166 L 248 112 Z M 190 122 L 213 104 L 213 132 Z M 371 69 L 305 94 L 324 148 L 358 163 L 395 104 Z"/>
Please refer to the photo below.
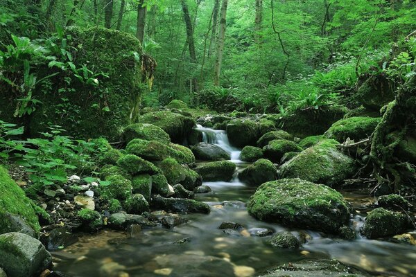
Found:
<path fill-rule="evenodd" d="M 196 129 L 202 133 L 202 141 L 204 143 L 211 143 L 211 144 L 218 145 L 220 148 L 223 148 L 225 152 L 230 154 L 231 161 L 241 162 L 239 159 L 241 150 L 239 150 L 238 148 L 234 148 L 229 143 L 227 132 L 223 130 L 216 130 L 216 129 L 211 129 L 207 127 L 202 127 L 201 125 L 197 125 Z"/>

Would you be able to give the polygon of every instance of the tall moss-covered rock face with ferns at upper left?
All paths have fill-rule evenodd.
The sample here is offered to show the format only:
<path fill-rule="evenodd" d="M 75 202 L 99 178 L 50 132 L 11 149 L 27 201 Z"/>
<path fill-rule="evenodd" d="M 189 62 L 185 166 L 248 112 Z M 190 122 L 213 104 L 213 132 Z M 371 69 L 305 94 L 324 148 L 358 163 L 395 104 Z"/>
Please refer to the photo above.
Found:
<path fill-rule="evenodd" d="M 55 71 L 59 74 L 49 79 L 49 89 L 39 86 L 33 91 L 33 98 L 42 104 L 28 118 L 28 131 L 36 136 L 52 123 L 64 126 L 68 134 L 77 138 L 106 136 L 119 140 L 121 128 L 135 122 L 139 115 L 142 75 L 135 59 L 135 53 L 141 53 L 139 40 L 106 28 L 71 27 L 65 33 L 70 36 L 68 49 L 76 69 L 85 65 L 90 71 L 109 77 L 94 77 L 99 84 L 92 85 L 80 82 L 71 69 L 64 73 L 56 68 L 37 69 L 38 79 Z M 83 75 L 81 70 L 80 75 Z M 0 102 L 10 107 L 0 107 L 1 118 L 12 121 L 17 102 L 10 99 L 18 97 L 3 97 L 6 98 L 0 98 Z"/>

